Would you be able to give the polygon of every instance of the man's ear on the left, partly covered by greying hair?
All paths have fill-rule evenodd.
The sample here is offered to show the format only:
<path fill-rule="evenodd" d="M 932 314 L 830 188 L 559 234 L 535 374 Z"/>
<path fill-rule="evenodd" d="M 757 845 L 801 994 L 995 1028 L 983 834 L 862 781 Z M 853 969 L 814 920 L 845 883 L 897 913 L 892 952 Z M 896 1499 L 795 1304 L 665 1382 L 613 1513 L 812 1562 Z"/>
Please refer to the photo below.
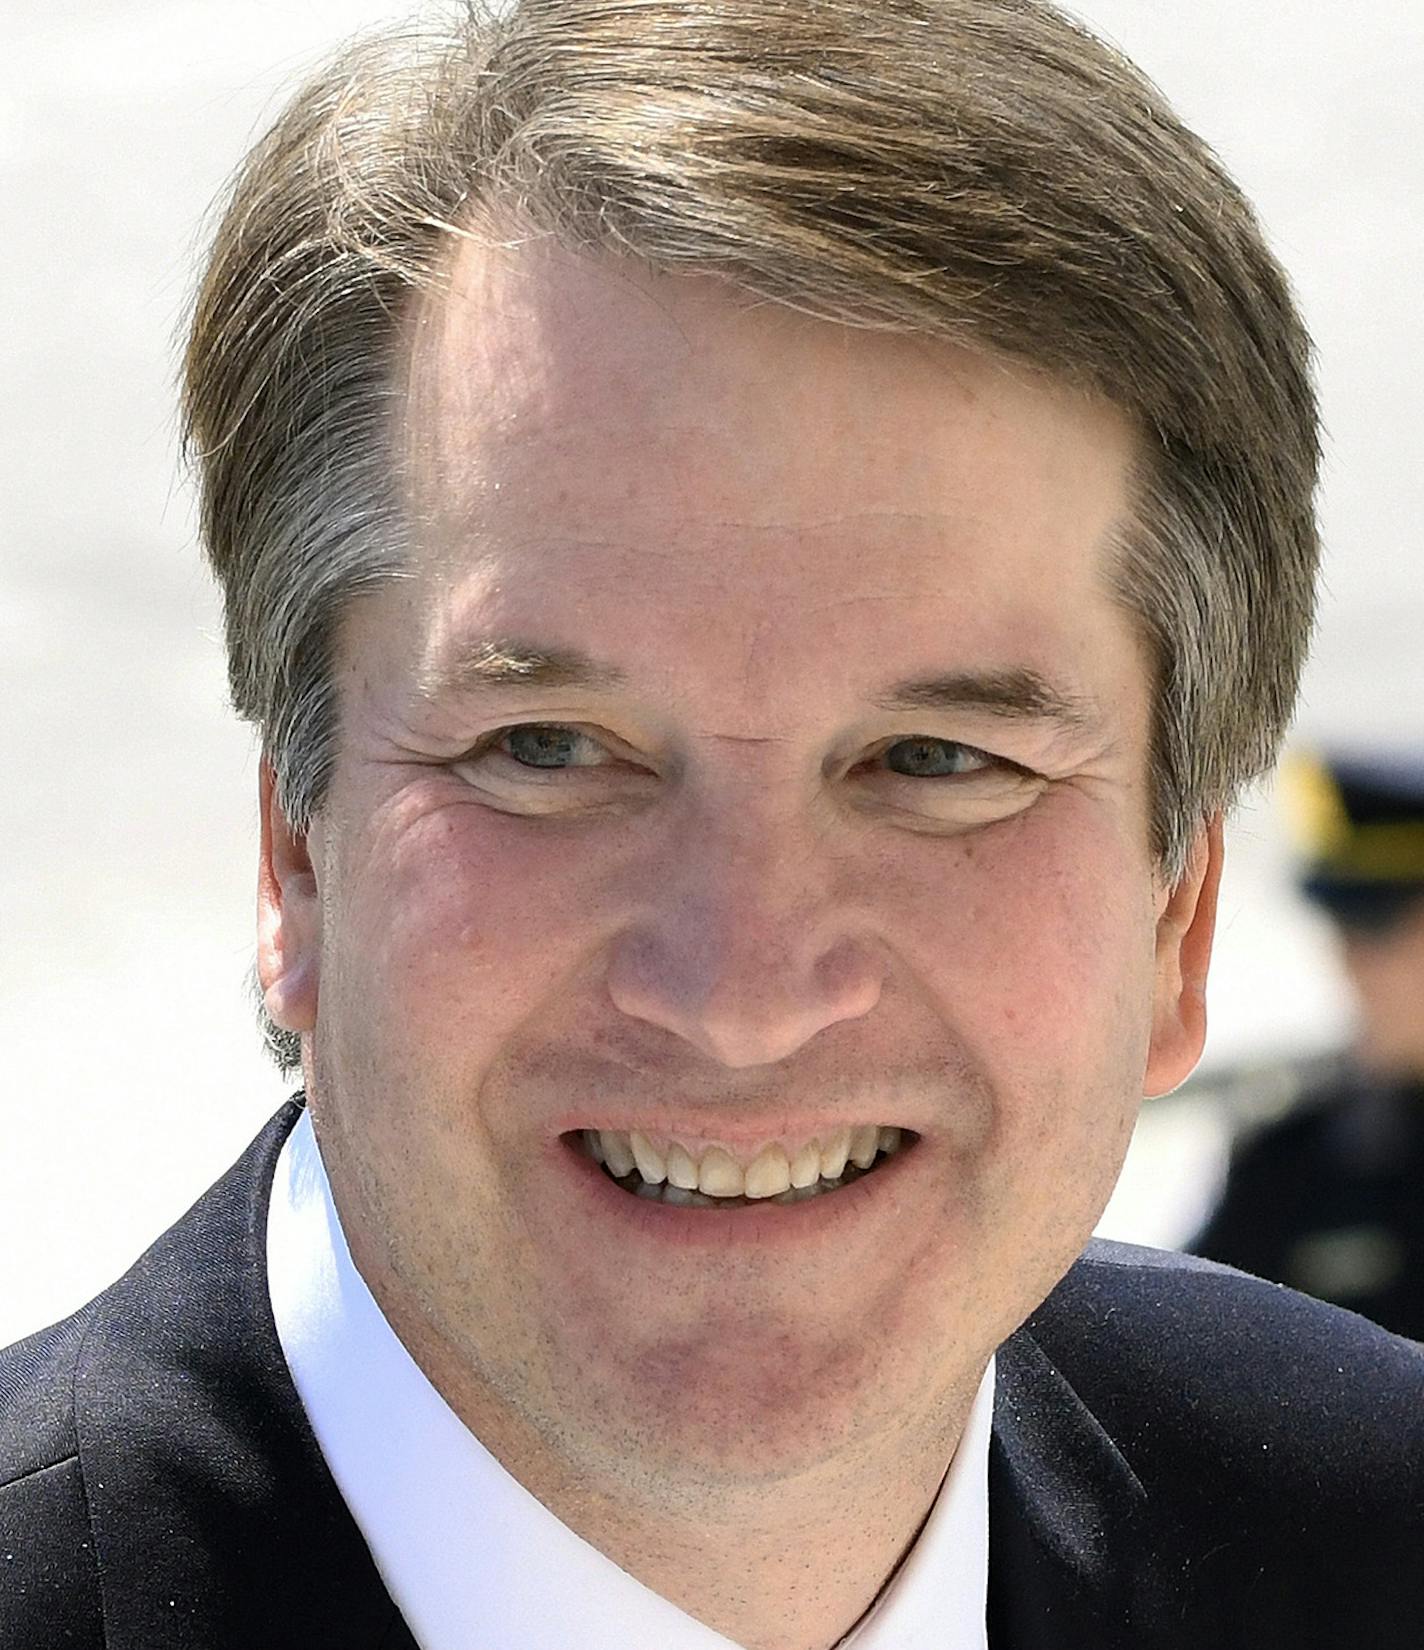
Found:
<path fill-rule="evenodd" d="M 305 833 L 294 832 L 277 799 L 272 764 L 259 779 L 262 848 L 257 865 L 257 980 L 262 1003 L 284 1031 L 317 1023 L 322 906 Z"/>

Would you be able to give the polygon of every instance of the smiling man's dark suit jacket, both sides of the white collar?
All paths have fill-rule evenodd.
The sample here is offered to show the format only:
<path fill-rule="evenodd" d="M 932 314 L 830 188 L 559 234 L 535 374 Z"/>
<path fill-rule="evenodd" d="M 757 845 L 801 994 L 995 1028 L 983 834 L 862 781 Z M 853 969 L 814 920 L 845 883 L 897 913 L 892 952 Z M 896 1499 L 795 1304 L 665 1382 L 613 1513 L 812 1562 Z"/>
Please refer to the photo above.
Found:
<path fill-rule="evenodd" d="M 413 1650 L 267 1304 L 295 1117 L 112 1289 L 0 1355 L 3 1650 Z M 1000 1351 L 990 1643 L 1417 1650 L 1424 1355 L 1094 1244 Z"/>

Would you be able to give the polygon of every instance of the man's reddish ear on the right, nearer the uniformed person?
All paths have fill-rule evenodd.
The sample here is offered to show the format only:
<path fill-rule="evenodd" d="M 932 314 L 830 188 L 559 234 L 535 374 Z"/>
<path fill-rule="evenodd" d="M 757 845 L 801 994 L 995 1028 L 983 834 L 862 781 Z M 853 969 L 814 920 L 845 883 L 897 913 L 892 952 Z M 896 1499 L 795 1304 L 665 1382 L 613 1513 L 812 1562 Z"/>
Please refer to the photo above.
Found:
<path fill-rule="evenodd" d="M 1152 1043 L 1142 1089 L 1148 1099 L 1185 1082 L 1201 1059 L 1221 861 L 1221 815 L 1216 813 L 1196 833 L 1181 879 L 1162 896 Z"/>

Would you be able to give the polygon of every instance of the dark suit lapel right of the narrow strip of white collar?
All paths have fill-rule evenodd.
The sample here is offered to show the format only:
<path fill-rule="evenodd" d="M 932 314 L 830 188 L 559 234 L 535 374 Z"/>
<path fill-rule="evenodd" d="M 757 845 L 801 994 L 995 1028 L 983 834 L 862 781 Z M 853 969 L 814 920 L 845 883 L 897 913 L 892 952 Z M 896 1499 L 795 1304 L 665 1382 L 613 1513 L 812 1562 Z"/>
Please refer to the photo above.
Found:
<path fill-rule="evenodd" d="M 1031 1328 L 998 1350 L 988 1470 L 990 1650 L 1140 1645 L 1147 1497 Z"/>

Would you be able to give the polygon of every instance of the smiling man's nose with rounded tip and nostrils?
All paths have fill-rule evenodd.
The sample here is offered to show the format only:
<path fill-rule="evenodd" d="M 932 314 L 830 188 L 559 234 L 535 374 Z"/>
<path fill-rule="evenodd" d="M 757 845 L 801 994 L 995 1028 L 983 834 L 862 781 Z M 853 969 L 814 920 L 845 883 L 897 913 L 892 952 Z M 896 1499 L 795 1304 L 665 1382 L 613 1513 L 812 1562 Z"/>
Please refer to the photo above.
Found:
<path fill-rule="evenodd" d="M 685 840 L 662 870 L 609 957 L 622 1013 L 743 1069 L 879 1002 L 884 954 L 807 845 L 744 822 L 718 843 Z"/>

